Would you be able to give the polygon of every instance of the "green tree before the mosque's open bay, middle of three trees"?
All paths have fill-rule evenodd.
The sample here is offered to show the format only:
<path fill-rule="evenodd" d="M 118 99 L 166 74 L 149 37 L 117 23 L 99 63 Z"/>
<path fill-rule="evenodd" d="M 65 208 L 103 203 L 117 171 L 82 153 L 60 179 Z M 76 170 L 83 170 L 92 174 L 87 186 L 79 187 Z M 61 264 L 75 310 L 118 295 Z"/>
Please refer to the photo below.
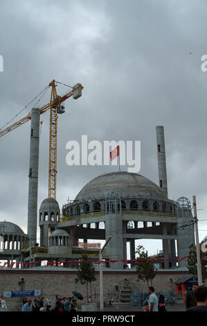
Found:
<path fill-rule="evenodd" d="M 149 284 L 152 286 L 152 280 L 156 275 L 154 263 L 152 259 L 148 257 L 148 252 L 147 250 L 145 251 L 143 246 L 138 246 L 136 248 L 136 253 L 138 253 L 136 262 L 138 281 L 142 280 L 143 282 L 147 282 L 147 286 L 149 286 Z"/>

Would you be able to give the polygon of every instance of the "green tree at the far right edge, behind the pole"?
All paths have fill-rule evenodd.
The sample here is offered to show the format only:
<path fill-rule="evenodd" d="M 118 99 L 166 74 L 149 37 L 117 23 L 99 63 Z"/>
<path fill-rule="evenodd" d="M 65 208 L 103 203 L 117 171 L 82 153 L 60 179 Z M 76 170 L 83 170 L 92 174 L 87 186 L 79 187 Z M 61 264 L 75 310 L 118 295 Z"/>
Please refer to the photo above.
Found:
<path fill-rule="evenodd" d="M 190 274 L 197 276 L 197 251 L 196 246 L 192 244 L 190 247 L 188 255 L 188 271 Z M 202 271 L 202 280 L 205 282 L 207 278 L 207 261 L 204 258 L 205 253 L 201 251 L 200 246 L 200 257 L 201 257 L 201 271 Z"/>

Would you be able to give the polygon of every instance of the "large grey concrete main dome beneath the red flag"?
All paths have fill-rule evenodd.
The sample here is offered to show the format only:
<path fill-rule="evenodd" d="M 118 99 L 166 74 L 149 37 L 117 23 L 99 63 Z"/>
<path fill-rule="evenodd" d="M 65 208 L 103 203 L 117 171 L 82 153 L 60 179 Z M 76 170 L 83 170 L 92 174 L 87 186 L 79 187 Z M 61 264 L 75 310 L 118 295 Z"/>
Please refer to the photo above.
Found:
<path fill-rule="evenodd" d="M 75 200 L 103 198 L 113 191 L 124 197 L 167 199 L 164 191 L 143 175 L 119 171 L 105 173 L 94 178 L 82 188 Z"/>

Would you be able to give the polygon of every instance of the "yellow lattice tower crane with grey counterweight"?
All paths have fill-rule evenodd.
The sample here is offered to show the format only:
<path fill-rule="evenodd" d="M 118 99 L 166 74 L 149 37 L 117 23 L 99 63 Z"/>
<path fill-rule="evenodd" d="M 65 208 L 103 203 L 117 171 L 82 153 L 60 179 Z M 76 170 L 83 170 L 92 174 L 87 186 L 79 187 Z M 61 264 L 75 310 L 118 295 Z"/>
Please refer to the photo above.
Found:
<path fill-rule="evenodd" d="M 58 82 L 56 82 L 58 83 Z M 64 85 L 64 84 L 62 84 Z M 55 80 L 49 83 L 48 87 L 51 87 L 51 101 L 40 108 L 40 114 L 45 113 L 50 109 L 50 144 L 49 144 L 49 171 L 48 171 L 48 197 L 56 199 L 56 173 L 57 173 L 57 114 L 64 113 L 64 106 L 61 104 L 67 98 L 73 96 L 76 100 L 82 96 L 82 85 L 76 84 L 71 87 L 71 92 L 66 93 L 64 96 L 58 96 Z M 6 135 L 8 132 L 22 126 L 24 123 L 31 119 L 31 113 L 29 113 L 23 119 L 13 123 L 6 129 L 0 131 L 0 137 Z"/>

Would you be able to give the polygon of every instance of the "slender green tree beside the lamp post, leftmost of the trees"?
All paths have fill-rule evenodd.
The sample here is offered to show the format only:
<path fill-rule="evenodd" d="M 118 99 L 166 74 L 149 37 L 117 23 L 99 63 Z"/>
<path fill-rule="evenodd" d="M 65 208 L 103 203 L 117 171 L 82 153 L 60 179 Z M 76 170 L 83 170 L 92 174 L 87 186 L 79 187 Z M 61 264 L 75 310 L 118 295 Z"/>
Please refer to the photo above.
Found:
<path fill-rule="evenodd" d="M 78 279 L 77 282 L 87 285 L 87 304 L 89 304 L 89 284 L 91 288 L 91 282 L 95 282 L 95 268 L 87 255 L 87 251 L 82 254 L 82 261 L 78 267 Z"/>

